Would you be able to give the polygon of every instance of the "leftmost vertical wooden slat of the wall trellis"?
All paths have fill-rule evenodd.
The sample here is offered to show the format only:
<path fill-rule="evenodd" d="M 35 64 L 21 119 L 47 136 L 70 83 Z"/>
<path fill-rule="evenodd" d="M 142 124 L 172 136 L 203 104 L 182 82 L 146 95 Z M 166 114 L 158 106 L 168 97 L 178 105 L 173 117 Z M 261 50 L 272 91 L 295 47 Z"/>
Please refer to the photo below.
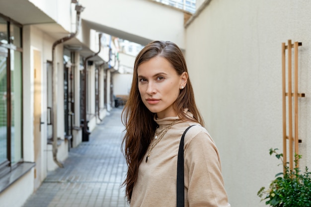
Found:
<path fill-rule="evenodd" d="M 282 100 L 283 100 L 283 165 L 287 162 L 287 147 L 286 147 L 286 61 L 285 61 L 285 43 L 282 43 Z M 285 168 L 284 168 L 285 171 Z"/>

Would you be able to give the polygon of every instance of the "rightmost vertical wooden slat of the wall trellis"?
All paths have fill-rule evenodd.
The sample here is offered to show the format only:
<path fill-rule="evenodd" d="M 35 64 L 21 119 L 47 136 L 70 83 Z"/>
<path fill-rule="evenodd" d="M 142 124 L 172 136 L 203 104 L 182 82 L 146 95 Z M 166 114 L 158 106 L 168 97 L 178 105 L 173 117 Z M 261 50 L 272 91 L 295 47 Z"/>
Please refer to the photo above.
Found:
<path fill-rule="evenodd" d="M 294 65 L 295 153 L 299 154 L 299 150 L 298 150 L 298 140 L 299 140 L 299 137 L 298 137 L 298 42 L 294 43 L 294 56 L 295 56 L 295 65 Z"/>

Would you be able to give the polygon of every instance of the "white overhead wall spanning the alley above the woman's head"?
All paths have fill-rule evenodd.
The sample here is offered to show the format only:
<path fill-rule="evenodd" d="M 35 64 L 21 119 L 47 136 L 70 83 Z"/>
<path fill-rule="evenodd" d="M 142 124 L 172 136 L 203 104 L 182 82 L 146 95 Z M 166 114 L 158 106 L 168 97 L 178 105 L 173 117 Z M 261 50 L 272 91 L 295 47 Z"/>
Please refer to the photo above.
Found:
<path fill-rule="evenodd" d="M 170 40 L 184 48 L 182 11 L 149 0 L 79 0 L 79 3 L 85 6 L 82 18 L 103 25 L 107 29 L 106 33 L 108 30 L 117 30 L 125 36 L 143 37 L 138 40 Z M 117 34 L 112 35 L 134 41 Z"/>

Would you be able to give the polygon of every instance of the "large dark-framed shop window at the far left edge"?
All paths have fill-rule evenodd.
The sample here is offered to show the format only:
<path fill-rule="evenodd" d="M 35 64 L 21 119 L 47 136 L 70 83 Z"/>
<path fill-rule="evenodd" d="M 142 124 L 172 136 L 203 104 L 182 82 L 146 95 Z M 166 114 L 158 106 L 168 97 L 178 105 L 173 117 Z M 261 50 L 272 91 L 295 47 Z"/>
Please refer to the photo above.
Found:
<path fill-rule="evenodd" d="M 0 15 L 0 178 L 23 161 L 21 32 L 20 24 Z"/>

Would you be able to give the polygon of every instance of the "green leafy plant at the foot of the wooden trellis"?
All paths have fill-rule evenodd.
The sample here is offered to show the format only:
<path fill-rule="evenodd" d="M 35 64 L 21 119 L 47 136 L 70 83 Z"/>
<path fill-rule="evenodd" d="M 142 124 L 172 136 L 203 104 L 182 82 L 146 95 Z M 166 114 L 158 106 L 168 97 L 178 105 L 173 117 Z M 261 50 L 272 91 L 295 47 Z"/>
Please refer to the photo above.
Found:
<path fill-rule="evenodd" d="M 262 187 L 257 195 L 266 200 L 270 207 L 311 207 L 311 172 L 306 166 L 305 172 L 300 173 L 298 161 L 302 155 L 295 154 L 295 168 L 291 170 L 287 164 L 283 164 L 283 154 L 277 152 L 277 148 L 270 149 L 270 155 L 282 161 L 284 173 L 278 173 L 266 190 Z"/>

